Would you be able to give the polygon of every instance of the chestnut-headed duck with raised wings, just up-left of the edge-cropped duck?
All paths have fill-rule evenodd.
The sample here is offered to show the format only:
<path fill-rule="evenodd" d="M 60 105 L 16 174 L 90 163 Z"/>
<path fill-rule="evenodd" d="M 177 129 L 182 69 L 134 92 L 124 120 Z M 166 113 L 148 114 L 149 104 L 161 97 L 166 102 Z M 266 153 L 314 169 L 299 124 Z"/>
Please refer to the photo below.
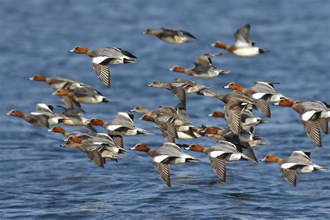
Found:
<path fill-rule="evenodd" d="M 235 82 L 231 82 L 227 86 L 223 86 L 223 88 L 229 88 L 235 91 L 240 91 L 246 95 L 249 95 L 249 97 L 253 97 L 254 99 L 257 100 L 262 99 L 272 103 L 278 102 L 283 97 L 286 98 L 281 93 L 277 93 L 274 89 L 274 84 L 279 84 L 279 83 L 256 81 L 255 84 L 256 86 L 252 86 L 250 88 L 244 88 L 243 86 Z"/>

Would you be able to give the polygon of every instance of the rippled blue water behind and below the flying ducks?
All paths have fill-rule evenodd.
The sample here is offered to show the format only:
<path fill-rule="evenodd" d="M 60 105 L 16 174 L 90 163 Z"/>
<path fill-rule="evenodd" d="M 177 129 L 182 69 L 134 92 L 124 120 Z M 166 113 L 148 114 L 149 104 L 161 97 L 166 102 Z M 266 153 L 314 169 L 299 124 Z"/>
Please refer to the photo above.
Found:
<path fill-rule="evenodd" d="M 10 109 L 33 111 L 40 102 L 61 104 L 51 88 L 29 81 L 33 74 L 61 75 L 93 85 L 115 102 L 84 105 L 86 117 L 111 120 L 117 111 L 136 105 L 156 109 L 174 105 L 169 91 L 147 88 L 150 81 L 193 79 L 226 93 L 222 86 L 236 81 L 276 81 L 276 89 L 295 100 L 329 102 L 329 1 L 1 1 L 0 56 L 0 209 L 1 217 L 19 218 L 325 218 L 330 214 L 329 171 L 301 174 L 290 187 L 276 164 L 227 164 L 226 184 L 219 183 L 207 157 L 196 164 L 171 167 L 172 188 L 155 173 L 148 155 L 133 152 L 118 164 L 98 168 L 76 149 L 58 147 L 63 136 L 49 134 L 19 118 L 3 116 Z M 249 22 L 251 37 L 268 54 L 239 58 L 228 52 L 214 65 L 232 74 L 194 79 L 169 72 L 173 65 L 190 67 L 195 56 L 220 52 L 215 40 L 233 42 L 235 30 Z M 168 45 L 148 28 L 175 27 L 199 40 Z M 89 48 L 115 46 L 138 56 L 139 63 L 111 66 L 112 88 L 102 86 L 88 57 L 69 54 L 75 45 Z M 223 104 L 188 95 L 188 114 L 196 125 L 221 125 L 209 118 Z M 257 113 L 259 116 L 260 114 Z M 136 117 L 138 118 L 138 117 Z M 164 141 L 152 124 L 136 124 L 155 132 L 125 138 L 125 146 L 146 143 L 154 148 Z M 74 130 L 74 127 L 65 127 Z M 99 129 L 102 132 L 102 129 Z M 262 159 L 268 153 L 287 157 L 292 150 L 316 149 L 292 109 L 272 107 L 270 122 L 256 134 L 269 146 L 256 148 Z M 315 152 L 316 164 L 330 167 L 329 135 Z M 179 141 L 211 146 L 210 139 Z"/>

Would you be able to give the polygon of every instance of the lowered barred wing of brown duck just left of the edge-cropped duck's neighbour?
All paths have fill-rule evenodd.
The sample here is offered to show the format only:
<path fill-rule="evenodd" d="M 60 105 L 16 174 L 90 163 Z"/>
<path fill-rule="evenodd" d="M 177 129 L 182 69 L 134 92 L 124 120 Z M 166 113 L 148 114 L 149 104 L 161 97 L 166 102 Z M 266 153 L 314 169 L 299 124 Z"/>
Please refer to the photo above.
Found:
<path fill-rule="evenodd" d="M 241 113 L 244 110 L 238 102 L 228 102 L 225 105 L 225 117 L 233 133 L 239 136 L 241 132 Z"/>

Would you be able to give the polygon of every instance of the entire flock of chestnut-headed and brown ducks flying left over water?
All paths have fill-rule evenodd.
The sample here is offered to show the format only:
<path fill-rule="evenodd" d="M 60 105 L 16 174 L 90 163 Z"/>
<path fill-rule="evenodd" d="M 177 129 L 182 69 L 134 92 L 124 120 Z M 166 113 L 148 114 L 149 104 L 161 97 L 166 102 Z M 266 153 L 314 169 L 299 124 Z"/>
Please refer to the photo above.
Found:
<path fill-rule="evenodd" d="M 235 32 L 235 44 L 225 45 L 223 42 L 215 42 L 214 47 L 226 49 L 228 52 L 240 57 L 257 56 L 267 52 L 265 49 L 255 47 L 249 36 L 250 25 L 246 24 Z M 177 29 L 162 29 L 156 31 L 147 29 L 145 34 L 155 35 L 157 38 L 168 43 L 182 44 L 196 40 L 187 31 Z M 86 47 L 77 46 L 69 52 L 77 54 L 87 54 L 91 59 L 91 64 L 97 77 L 105 86 L 111 86 L 109 65 L 134 63 L 136 56 L 123 49 L 116 47 L 102 47 L 90 50 Z M 182 68 L 178 65 L 168 70 L 182 72 L 192 77 L 209 79 L 218 77 L 221 74 L 228 74 L 228 70 L 220 70 L 212 65 L 212 58 L 221 54 L 203 54 L 197 56 L 194 68 Z M 152 81 L 147 86 L 156 88 L 166 88 L 178 98 L 179 104 L 175 107 L 160 106 L 159 109 L 149 110 L 138 106 L 128 112 L 118 112 L 115 119 L 106 123 L 100 118 L 85 118 L 84 109 L 81 104 L 97 104 L 110 102 L 99 91 L 96 91 L 88 84 L 74 81 L 65 77 L 47 78 L 40 74 L 30 78 L 33 81 L 45 81 L 52 86 L 54 93 L 68 107 L 52 104 L 37 104 L 36 111 L 29 115 L 15 109 L 7 114 L 23 118 L 26 122 L 40 127 L 48 127 L 50 132 L 56 132 L 65 136 L 63 147 L 79 148 L 97 166 L 104 167 L 107 159 L 118 162 L 123 158 L 123 154 L 128 151 L 123 148 L 123 137 L 139 134 L 150 134 L 151 132 L 136 127 L 134 124 L 134 113 L 142 114 L 141 120 L 155 123 L 162 132 L 166 142 L 160 148 L 152 149 L 143 143 L 137 143 L 129 150 L 147 152 L 152 158 L 159 177 L 164 183 L 171 187 L 170 164 L 182 164 L 188 162 L 198 162 L 199 159 L 187 155 L 184 150 L 203 152 L 210 159 L 210 164 L 219 179 L 226 182 L 226 162 L 249 160 L 258 164 L 258 160 L 253 152 L 254 146 L 265 145 L 262 137 L 254 134 L 257 125 L 266 123 L 266 120 L 253 115 L 254 110 L 260 111 L 267 118 L 271 117 L 269 104 L 282 107 L 291 107 L 299 113 L 306 134 L 317 145 L 322 146 L 320 129 L 324 134 L 328 134 L 328 120 L 330 118 L 330 106 L 326 102 L 294 101 L 278 93 L 274 89 L 276 83 L 256 81 L 254 86 L 244 88 L 235 82 L 223 86 L 233 90 L 232 93 L 221 95 L 208 90 L 210 86 L 196 84 L 187 79 L 176 79 L 168 83 Z M 196 93 L 205 97 L 215 97 L 221 100 L 224 105 L 224 112 L 214 111 L 209 116 L 223 118 L 228 123 L 228 127 L 213 127 L 202 125 L 198 127 L 189 122 L 186 109 L 186 95 Z M 165 94 L 165 93 L 164 93 Z M 61 109 L 61 112 L 59 111 Z M 59 123 L 64 125 L 84 126 L 91 132 L 68 132 Z M 93 126 L 101 126 L 105 133 L 97 133 Z M 205 136 L 210 139 L 219 140 L 215 145 L 205 148 L 198 144 L 175 143 L 175 139 L 196 139 Z M 297 183 L 297 173 L 311 173 L 313 171 L 324 170 L 326 168 L 313 164 L 311 152 L 317 150 L 295 150 L 290 157 L 281 159 L 275 155 L 267 155 L 261 161 L 276 162 L 283 173 L 283 177 L 289 184 L 295 186 Z"/>

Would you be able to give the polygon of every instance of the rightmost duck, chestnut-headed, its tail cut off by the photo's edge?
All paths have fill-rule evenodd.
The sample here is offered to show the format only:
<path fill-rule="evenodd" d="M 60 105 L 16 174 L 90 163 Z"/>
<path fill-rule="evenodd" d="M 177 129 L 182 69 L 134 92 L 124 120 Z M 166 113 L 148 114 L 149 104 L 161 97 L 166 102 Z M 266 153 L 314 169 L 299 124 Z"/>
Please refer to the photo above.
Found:
<path fill-rule="evenodd" d="M 325 134 L 329 132 L 329 117 L 325 117 L 329 109 L 325 104 L 318 101 L 303 102 L 301 100 L 296 100 L 293 102 L 292 100 L 281 98 L 281 100 L 274 103 L 274 105 L 291 107 L 294 111 L 297 111 L 299 113 L 299 120 L 304 126 L 306 134 L 317 146 L 322 147 L 320 127 Z M 324 118 L 322 118 L 322 116 L 324 116 Z"/>

